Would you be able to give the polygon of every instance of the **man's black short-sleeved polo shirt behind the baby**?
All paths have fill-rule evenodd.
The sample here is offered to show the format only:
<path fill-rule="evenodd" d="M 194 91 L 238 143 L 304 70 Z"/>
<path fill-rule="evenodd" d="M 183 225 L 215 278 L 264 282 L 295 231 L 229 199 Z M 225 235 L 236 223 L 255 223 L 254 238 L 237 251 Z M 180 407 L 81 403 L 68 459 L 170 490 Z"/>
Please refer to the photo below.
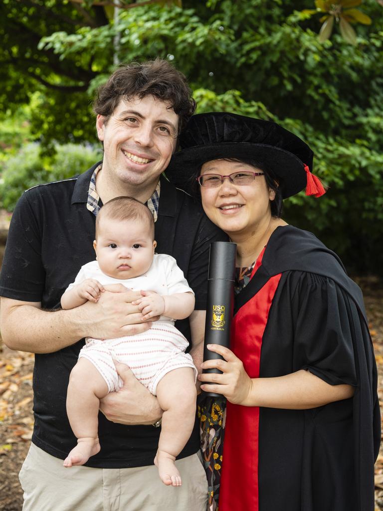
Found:
<path fill-rule="evenodd" d="M 98 165 L 98 164 L 97 164 Z M 57 309 L 82 265 L 94 260 L 95 216 L 86 203 L 96 165 L 73 179 L 38 185 L 23 193 L 12 215 L 0 274 L 0 296 L 41 301 Z M 196 309 L 206 307 L 209 244 L 227 240 L 202 207 L 161 177 L 156 251 L 172 255 L 196 294 Z M 190 339 L 188 321 L 176 323 Z M 35 426 L 32 442 L 64 459 L 76 438 L 66 416 L 66 388 L 84 339 L 55 353 L 36 354 L 33 374 Z M 181 426 L 182 427 L 182 426 Z M 153 464 L 159 428 L 114 424 L 99 414 L 101 451 L 89 467 L 125 468 Z M 199 431 L 179 457 L 199 448 Z"/>

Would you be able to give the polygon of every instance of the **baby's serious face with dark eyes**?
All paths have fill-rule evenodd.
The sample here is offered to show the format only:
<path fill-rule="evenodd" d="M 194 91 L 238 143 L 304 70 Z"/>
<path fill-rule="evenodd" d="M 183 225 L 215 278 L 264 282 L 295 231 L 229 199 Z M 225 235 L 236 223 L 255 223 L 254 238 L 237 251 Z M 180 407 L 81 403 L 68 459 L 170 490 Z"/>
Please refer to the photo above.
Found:
<path fill-rule="evenodd" d="M 125 279 L 149 270 L 156 242 L 147 222 L 103 218 L 93 246 L 101 270 L 110 277 Z"/>

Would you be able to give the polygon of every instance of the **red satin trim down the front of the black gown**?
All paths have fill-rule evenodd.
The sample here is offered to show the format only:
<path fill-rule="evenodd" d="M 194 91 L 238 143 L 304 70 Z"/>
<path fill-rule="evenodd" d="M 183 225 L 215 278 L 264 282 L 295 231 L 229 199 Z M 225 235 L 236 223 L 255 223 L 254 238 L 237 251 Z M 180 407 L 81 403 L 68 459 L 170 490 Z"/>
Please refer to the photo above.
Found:
<path fill-rule="evenodd" d="M 251 277 L 261 265 L 259 254 Z M 240 358 L 250 378 L 258 378 L 262 337 L 281 273 L 274 275 L 235 314 L 231 350 Z M 258 511 L 259 407 L 227 402 L 222 456 L 220 511 Z"/>

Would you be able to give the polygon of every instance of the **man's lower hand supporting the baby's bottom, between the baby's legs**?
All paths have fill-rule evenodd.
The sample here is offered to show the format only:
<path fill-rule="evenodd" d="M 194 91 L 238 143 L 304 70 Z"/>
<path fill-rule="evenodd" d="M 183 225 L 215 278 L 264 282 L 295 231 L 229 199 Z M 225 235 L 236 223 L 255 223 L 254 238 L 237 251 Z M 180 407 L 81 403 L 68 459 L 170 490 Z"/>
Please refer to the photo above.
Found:
<path fill-rule="evenodd" d="M 100 411 L 108 421 L 119 424 L 154 424 L 162 416 L 157 398 L 136 379 L 128 365 L 114 364 L 123 386 L 101 400 Z"/>

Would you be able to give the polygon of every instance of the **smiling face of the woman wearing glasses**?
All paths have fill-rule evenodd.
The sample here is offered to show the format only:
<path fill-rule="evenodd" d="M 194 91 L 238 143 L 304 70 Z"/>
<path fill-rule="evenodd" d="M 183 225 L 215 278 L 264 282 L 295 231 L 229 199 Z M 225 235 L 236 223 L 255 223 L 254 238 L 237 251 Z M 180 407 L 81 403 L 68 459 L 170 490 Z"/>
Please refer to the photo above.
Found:
<path fill-rule="evenodd" d="M 228 176 L 241 170 L 260 172 L 242 162 L 217 159 L 206 162 L 200 175 Z M 265 176 L 255 176 L 250 184 L 242 185 L 226 178 L 217 188 L 201 187 L 201 198 L 206 215 L 234 240 L 236 235 L 253 235 L 258 227 L 270 222 L 270 200 L 274 200 L 275 192 L 268 188 Z"/>

